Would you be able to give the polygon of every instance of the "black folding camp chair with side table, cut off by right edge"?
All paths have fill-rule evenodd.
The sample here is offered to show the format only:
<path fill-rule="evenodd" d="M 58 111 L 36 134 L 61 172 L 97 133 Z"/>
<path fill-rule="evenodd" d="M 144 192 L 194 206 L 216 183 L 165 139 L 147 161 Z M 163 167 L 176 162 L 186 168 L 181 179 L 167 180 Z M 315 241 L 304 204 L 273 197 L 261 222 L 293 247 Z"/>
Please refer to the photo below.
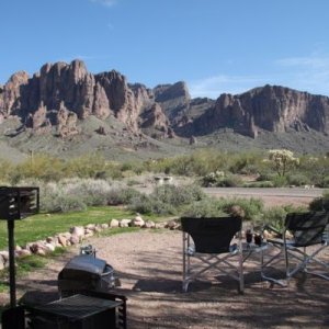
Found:
<path fill-rule="evenodd" d="M 263 253 L 262 277 L 283 286 L 300 271 L 329 280 L 328 260 L 318 258 L 320 251 L 329 243 L 328 232 L 326 232 L 328 220 L 329 213 L 327 212 L 290 213 L 286 215 L 282 231 L 266 226 L 265 229 L 277 235 L 277 238 L 268 239 L 269 246 L 273 246 L 276 251 L 274 254 Z M 282 259 L 285 268 L 284 281 L 268 274 L 269 268 L 273 270 Z"/>

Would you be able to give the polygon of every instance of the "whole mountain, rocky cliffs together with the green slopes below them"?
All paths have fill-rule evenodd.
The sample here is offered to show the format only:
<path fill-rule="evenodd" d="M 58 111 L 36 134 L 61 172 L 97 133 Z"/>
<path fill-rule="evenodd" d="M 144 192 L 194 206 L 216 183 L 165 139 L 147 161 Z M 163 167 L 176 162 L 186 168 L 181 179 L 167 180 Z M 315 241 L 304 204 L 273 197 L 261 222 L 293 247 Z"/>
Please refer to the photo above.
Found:
<path fill-rule="evenodd" d="M 225 141 L 231 149 L 275 147 L 273 140 L 298 151 L 318 140 L 316 150 L 324 151 L 328 134 L 329 98 L 279 86 L 192 99 L 182 81 L 151 89 L 115 70 L 93 75 L 81 60 L 46 64 L 32 77 L 20 71 L 0 86 L 1 143 L 24 154 L 26 147 L 46 151 L 47 143 L 56 155 L 116 146 L 163 156 L 163 149 L 181 152 L 189 143 Z"/>

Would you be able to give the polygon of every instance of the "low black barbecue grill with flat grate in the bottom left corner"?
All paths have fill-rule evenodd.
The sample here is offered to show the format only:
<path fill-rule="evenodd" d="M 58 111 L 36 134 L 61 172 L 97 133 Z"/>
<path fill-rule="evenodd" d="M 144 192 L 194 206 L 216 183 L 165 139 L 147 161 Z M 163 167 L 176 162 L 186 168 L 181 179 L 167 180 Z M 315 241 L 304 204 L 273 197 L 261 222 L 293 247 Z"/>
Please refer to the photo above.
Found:
<path fill-rule="evenodd" d="M 126 329 L 126 297 L 83 292 L 48 304 L 20 305 L 2 313 L 3 329 Z"/>

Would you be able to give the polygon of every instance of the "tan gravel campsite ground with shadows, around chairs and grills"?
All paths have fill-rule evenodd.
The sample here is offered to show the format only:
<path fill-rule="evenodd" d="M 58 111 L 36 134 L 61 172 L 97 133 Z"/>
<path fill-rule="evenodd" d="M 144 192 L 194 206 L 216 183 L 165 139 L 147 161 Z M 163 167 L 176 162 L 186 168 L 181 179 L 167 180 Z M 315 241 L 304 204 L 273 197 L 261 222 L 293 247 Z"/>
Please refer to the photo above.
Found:
<path fill-rule="evenodd" d="M 180 231 L 140 230 L 89 241 L 115 269 L 128 297 L 128 328 L 329 328 L 329 282 L 310 275 L 288 287 L 271 286 L 259 275 L 259 256 L 245 265 L 245 294 L 225 275 L 208 273 L 181 292 Z M 46 269 L 19 280 L 25 298 L 57 298 L 57 274 L 78 247 Z M 328 259 L 328 251 L 324 254 Z M 2 296 L 3 297 L 3 296 Z"/>

